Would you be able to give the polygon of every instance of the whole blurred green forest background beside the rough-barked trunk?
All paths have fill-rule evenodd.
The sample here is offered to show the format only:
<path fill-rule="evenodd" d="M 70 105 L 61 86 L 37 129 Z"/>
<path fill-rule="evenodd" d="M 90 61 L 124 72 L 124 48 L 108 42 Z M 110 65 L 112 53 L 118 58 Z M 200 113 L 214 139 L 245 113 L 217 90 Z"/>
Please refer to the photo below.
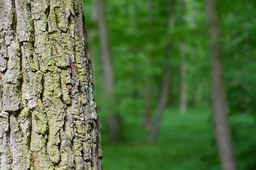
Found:
<path fill-rule="evenodd" d="M 256 170 L 256 1 L 206 1 L 84 0 L 104 170 L 220 170 L 215 66 L 237 169 Z"/>

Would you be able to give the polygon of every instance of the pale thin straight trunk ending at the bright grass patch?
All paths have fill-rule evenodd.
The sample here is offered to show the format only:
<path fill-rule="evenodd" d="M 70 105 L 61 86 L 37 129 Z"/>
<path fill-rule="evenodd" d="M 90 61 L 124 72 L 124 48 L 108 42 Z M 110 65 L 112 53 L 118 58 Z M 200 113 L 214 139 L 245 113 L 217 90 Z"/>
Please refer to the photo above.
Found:
<path fill-rule="evenodd" d="M 179 110 L 180 113 L 186 113 L 187 111 L 187 91 L 186 91 L 186 66 L 185 66 L 185 53 L 186 45 L 184 43 L 179 44 L 179 51 L 180 51 L 180 66 L 179 66 L 179 73 L 180 73 L 180 102 L 179 102 Z"/>

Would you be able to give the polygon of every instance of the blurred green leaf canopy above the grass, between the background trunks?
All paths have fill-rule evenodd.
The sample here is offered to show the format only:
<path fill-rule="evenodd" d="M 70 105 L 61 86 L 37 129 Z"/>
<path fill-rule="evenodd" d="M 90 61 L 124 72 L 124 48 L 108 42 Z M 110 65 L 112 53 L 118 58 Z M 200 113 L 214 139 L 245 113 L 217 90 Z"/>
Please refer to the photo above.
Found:
<path fill-rule="evenodd" d="M 116 82 L 116 95 L 124 103 L 140 101 L 143 104 L 147 76 L 153 77 L 154 96 L 158 98 L 161 88 L 163 65 L 167 43 L 171 40 L 172 69 L 170 98 L 174 104 L 179 102 L 179 43 L 185 43 L 186 83 L 188 103 L 208 106 L 210 103 L 210 73 L 208 35 L 205 24 L 203 1 L 176 0 L 174 6 L 175 24 L 168 29 L 170 13 L 169 0 L 106 0 L 105 16 L 110 33 L 112 63 Z M 98 105 L 102 99 L 102 69 L 95 21 L 92 19 L 92 3 L 85 1 L 85 14 L 90 36 L 90 49 L 95 49 L 93 59 Z M 223 53 L 227 98 L 230 113 L 256 113 L 256 2 L 252 0 L 219 1 L 223 34 Z M 171 37 L 168 36 L 171 33 Z M 139 73 L 139 74 L 138 74 Z M 134 95 L 136 94 L 136 95 Z M 126 101 L 127 100 L 127 101 Z M 157 100 L 154 100 L 155 104 Z"/>

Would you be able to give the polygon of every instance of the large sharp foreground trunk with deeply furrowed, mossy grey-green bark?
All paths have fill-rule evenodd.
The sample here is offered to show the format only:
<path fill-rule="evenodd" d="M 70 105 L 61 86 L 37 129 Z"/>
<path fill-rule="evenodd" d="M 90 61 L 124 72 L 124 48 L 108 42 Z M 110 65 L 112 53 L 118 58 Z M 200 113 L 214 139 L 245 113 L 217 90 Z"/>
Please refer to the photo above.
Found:
<path fill-rule="evenodd" d="M 82 0 L 0 0 L 0 170 L 101 170 Z"/>

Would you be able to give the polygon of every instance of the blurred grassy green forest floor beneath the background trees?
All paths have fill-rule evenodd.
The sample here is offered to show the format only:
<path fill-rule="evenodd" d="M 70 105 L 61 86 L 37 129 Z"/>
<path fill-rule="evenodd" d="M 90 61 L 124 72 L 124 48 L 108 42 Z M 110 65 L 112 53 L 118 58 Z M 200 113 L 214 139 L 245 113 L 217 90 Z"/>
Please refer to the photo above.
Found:
<path fill-rule="evenodd" d="M 193 109 L 182 115 L 177 109 L 167 109 L 155 144 L 145 142 L 148 131 L 142 127 L 143 115 L 122 119 L 125 119 L 123 142 L 108 141 L 103 129 L 104 170 L 220 170 L 209 111 Z M 254 120 L 249 116 L 233 116 L 231 119 L 231 125 L 239 128 L 234 137 L 237 138 L 239 157 L 256 148 L 255 137 L 246 140 L 256 132 L 250 130 L 253 124 Z M 238 161 L 239 170 L 248 170 L 248 165 L 255 163 L 255 156 L 250 157 L 252 160 L 245 157 Z"/>

